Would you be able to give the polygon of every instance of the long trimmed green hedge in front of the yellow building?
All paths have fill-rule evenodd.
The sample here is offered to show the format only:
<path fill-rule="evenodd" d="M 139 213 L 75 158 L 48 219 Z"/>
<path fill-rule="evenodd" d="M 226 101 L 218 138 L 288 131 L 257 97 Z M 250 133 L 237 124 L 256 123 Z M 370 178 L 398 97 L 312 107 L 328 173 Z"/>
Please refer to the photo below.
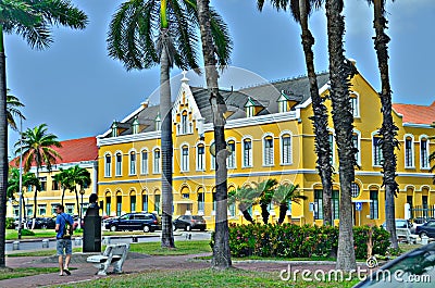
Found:
<path fill-rule="evenodd" d="M 373 229 L 373 254 L 385 255 L 388 233 Z M 357 259 L 366 258 L 369 226 L 355 227 Z M 213 248 L 213 238 L 211 247 Z M 233 256 L 327 258 L 338 247 L 338 227 L 294 224 L 229 225 L 229 249 Z"/>

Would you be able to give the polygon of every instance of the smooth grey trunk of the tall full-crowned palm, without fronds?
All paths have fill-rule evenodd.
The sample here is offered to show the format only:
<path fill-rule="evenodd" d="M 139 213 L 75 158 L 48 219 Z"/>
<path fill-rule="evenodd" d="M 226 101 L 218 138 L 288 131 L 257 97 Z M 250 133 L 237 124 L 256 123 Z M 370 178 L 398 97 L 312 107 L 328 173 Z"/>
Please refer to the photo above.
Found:
<path fill-rule="evenodd" d="M 163 38 L 169 37 L 167 29 L 162 30 Z M 164 40 L 163 40 L 164 41 Z M 162 118 L 162 247 L 174 248 L 172 231 L 172 104 L 170 84 L 170 55 L 163 49 L 160 58 L 160 116 Z"/>

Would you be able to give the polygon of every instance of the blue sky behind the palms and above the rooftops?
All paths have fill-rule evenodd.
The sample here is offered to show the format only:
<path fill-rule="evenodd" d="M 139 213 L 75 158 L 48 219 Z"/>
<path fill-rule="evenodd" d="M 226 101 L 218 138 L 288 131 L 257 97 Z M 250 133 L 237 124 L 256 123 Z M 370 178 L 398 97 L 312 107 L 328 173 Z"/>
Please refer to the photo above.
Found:
<path fill-rule="evenodd" d="M 5 37 L 8 87 L 26 105 L 23 129 L 46 123 L 61 140 L 96 136 L 113 120 L 122 120 L 156 90 L 159 70 L 126 72 L 107 55 L 105 37 L 121 0 L 73 0 L 89 16 L 85 30 L 53 28 L 54 42 L 45 51 L 32 50 L 17 36 Z M 300 29 L 291 16 L 266 1 L 262 13 L 254 0 L 212 0 L 234 39 L 232 65 L 266 80 L 306 74 Z M 373 49 L 373 13 L 366 0 L 345 1 L 348 58 L 380 89 Z M 390 80 L 394 102 L 428 105 L 435 100 L 433 0 L 388 1 Z M 310 26 L 315 37 L 315 68 L 326 71 L 327 38 L 324 11 Z M 179 74 L 173 70 L 172 76 Z M 258 79 L 258 78 L 257 78 Z M 229 86 L 232 83 L 223 83 Z M 249 85 L 235 84 L 235 86 Z M 10 150 L 18 135 L 10 132 Z M 11 154 L 11 151 L 10 151 Z"/>

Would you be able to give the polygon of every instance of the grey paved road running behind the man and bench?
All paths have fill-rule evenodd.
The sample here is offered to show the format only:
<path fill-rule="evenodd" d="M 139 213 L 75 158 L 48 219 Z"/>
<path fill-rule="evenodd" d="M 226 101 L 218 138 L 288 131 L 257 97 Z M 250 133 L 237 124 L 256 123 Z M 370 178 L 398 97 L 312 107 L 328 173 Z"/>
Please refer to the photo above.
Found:
<path fill-rule="evenodd" d="M 174 231 L 174 239 L 175 241 L 182 241 L 182 240 L 210 240 L 210 233 L 207 231 L 183 231 L 183 230 L 176 230 Z M 137 242 L 158 242 L 160 241 L 161 233 L 156 233 L 156 234 L 144 234 L 144 235 L 132 235 L 132 236 L 126 236 L 126 235 L 120 235 L 120 236 L 109 236 L 110 243 L 132 243 L 133 239 L 137 239 Z M 109 243 L 107 237 L 103 237 L 103 243 Z M 82 247 L 82 241 L 80 240 L 73 240 L 73 248 L 74 247 Z M 7 243 L 7 252 L 13 251 L 13 243 Z M 22 240 L 20 241 L 20 251 L 26 251 L 26 250 L 45 250 L 47 248 L 42 248 L 42 240 Z M 48 249 L 55 249 L 55 239 L 49 239 L 49 247 Z"/>

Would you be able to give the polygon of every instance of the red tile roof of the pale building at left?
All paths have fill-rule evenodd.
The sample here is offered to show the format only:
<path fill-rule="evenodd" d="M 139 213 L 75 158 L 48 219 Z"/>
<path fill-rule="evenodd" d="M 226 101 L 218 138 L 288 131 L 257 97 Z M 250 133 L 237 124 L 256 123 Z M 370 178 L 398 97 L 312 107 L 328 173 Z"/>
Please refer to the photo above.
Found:
<path fill-rule="evenodd" d="M 61 148 L 53 147 L 53 149 L 62 156 L 61 160 L 57 161 L 57 164 L 92 161 L 98 159 L 97 138 L 94 136 L 64 140 L 61 141 Z M 16 158 L 12 160 L 10 164 L 15 166 L 15 161 Z"/>

